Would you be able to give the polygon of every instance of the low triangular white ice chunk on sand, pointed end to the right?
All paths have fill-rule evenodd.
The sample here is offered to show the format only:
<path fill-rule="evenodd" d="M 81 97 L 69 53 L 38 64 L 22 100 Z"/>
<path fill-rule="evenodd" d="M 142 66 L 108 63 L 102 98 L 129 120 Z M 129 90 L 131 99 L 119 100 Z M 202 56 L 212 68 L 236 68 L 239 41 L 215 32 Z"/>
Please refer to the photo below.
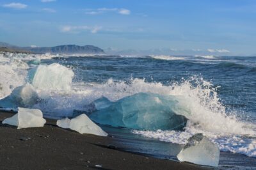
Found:
<path fill-rule="evenodd" d="M 98 125 L 93 123 L 86 114 L 81 114 L 72 120 L 65 118 L 63 120 L 58 120 L 57 125 L 61 128 L 70 128 L 79 132 L 80 134 L 93 134 L 107 136 L 108 134 L 104 132 Z"/>

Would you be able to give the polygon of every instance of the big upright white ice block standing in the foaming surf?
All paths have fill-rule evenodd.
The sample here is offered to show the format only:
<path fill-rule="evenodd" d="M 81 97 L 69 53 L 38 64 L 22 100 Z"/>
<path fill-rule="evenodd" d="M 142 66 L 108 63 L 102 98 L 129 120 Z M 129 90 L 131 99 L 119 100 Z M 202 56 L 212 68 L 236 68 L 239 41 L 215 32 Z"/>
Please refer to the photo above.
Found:
<path fill-rule="evenodd" d="M 39 65 L 29 71 L 29 81 L 40 90 L 70 90 L 74 72 L 58 63 Z"/>

